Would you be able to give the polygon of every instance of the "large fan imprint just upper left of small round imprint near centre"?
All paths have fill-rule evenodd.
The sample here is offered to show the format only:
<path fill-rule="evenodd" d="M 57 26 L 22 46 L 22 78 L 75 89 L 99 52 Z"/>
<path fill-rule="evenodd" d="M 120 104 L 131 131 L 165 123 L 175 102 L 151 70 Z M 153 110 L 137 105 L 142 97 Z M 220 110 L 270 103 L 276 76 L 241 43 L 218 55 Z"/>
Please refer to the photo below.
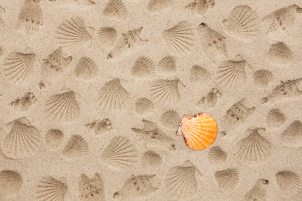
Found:
<path fill-rule="evenodd" d="M 126 106 L 129 93 L 122 87 L 120 79 L 115 78 L 101 88 L 99 103 L 103 109 L 120 109 Z"/>

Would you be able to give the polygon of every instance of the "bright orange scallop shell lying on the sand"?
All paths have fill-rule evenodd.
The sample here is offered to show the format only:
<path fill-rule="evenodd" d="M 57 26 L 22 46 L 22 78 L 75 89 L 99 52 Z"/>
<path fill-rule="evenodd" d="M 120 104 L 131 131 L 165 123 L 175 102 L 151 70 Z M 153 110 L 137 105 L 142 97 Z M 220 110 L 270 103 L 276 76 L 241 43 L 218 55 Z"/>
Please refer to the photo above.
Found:
<path fill-rule="evenodd" d="M 184 115 L 178 126 L 176 135 L 183 135 L 190 149 L 202 150 L 213 144 L 217 135 L 215 119 L 206 113 L 194 117 Z"/>

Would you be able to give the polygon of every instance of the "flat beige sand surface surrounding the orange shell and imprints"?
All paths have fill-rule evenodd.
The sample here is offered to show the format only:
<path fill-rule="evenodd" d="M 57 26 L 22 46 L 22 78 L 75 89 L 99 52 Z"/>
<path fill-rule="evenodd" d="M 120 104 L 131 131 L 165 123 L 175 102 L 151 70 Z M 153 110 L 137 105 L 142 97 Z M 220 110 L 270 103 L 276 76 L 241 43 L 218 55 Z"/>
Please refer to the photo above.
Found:
<path fill-rule="evenodd" d="M 59 1 L 59 0 L 58 0 Z M 87 4 L 84 0 L 79 3 L 72 2 L 51 2 L 42 0 L 39 6 L 42 9 L 43 25 L 39 31 L 34 34 L 28 34 L 24 29 L 17 29 L 17 19 L 24 0 L 0 0 L 0 6 L 5 9 L 5 13 L 0 14 L 3 23 L 0 28 L 0 46 L 3 54 L 0 57 L 1 69 L 5 57 L 10 52 L 32 53 L 36 55 L 34 63 L 34 73 L 32 79 L 21 84 L 11 83 L 1 70 L 0 79 L 0 123 L 1 123 L 1 146 L 3 139 L 10 130 L 6 129 L 6 124 L 21 117 L 26 117 L 32 125 L 40 131 L 41 146 L 37 153 L 22 159 L 10 159 L 0 155 L 0 171 L 14 170 L 23 178 L 23 184 L 20 190 L 14 195 L 1 195 L 0 201 L 35 201 L 37 199 L 36 190 L 38 181 L 43 177 L 50 175 L 56 179 L 66 178 L 69 192 L 65 200 L 78 201 L 79 187 L 78 181 L 80 174 L 84 173 L 92 178 L 95 172 L 101 174 L 104 183 L 105 197 L 107 201 L 113 200 L 113 194 L 122 188 L 124 182 L 134 175 L 155 174 L 152 186 L 157 187 L 154 193 L 147 196 L 138 196 L 138 198 L 121 198 L 121 200 L 140 200 L 140 201 L 161 201 L 170 200 L 166 189 L 168 188 L 165 178 L 166 174 L 171 172 L 170 168 L 182 166 L 189 160 L 202 174 L 188 173 L 189 177 L 194 175 L 197 181 L 197 193 L 190 195 L 189 190 L 186 198 L 176 198 L 171 200 L 200 200 L 200 201 L 240 201 L 245 199 L 245 195 L 251 191 L 258 179 L 264 178 L 269 181 L 261 189 L 255 190 L 259 195 L 257 201 L 301 201 L 302 200 L 302 149 L 301 141 L 298 146 L 291 146 L 282 143 L 281 134 L 296 120 L 301 121 L 302 115 L 302 97 L 290 96 L 282 99 L 272 99 L 262 104 L 261 99 L 270 94 L 270 92 L 280 84 L 280 81 L 298 79 L 302 77 L 302 20 L 301 13 L 297 15 L 295 24 L 286 30 L 286 32 L 275 32 L 265 36 L 257 37 L 253 41 L 240 40 L 236 37 L 227 35 L 221 23 L 228 17 L 229 12 L 238 5 L 249 5 L 255 10 L 260 19 L 265 15 L 282 7 L 297 4 L 302 6 L 299 0 L 215 0 L 215 6 L 209 8 L 205 14 L 191 14 L 185 9 L 185 6 L 191 0 L 174 0 L 171 6 L 158 12 L 151 12 L 147 9 L 148 0 L 122 0 L 128 11 L 125 20 L 119 18 L 107 17 L 102 14 L 108 0 L 97 0 L 96 4 Z M 127 49 L 124 53 L 111 60 L 107 59 L 108 53 L 113 48 L 104 48 L 98 41 L 97 34 L 94 34 L 92 48 L 86 45 L 76 47 L 63 47 L 63 56 L 72 56 L 73 59 L 66 69 L 56 75 L 52 80 L 52 86 L 43 89 L 39 88 L 40 66 L 42 60 L 56 50 L 60 44 L 55 38 L 55 30 L 61 22 L 71 17 L 79 16 L 84 20 L 87 27 L 93 27 L 95 33 L 101 27 L 113 27 L 117 33 L 127 33 L 128 31 L 143 27 L 140 37 L 148 39 L 145 44 L 135 46 L 133 49 Z M 182 53 L 175 51 L 167 46 L 161 32 L 175 26 L 181 21 L 188 21 L 192 27 L 197 28 L 200 23 L 206 23 L 211 29 L 223 34 L 226 37 L 227 53 L 230 60 L 240 54 L 244 60 L 251 66 L 246 68 L 246 79 L 244 84 L 237 88 L 226 89 L 223 84 L 218 84 L 222 96 L 218 98 L 214 107 L 197 105 L 197 101 L 206 96 L 213 85 L 204 87 L 200 91 L 190 84 L 190 68 L 198 65 L 206 68 L 215 75 L 218 62 L 213 63 L 202 51 L 199 45 L 199 39 L 193 42 L 194 47 L 191 52 Z M 270 45 L 278 41 L 284 42 L 290 47 L 294 54 L 292 63 L 287 65 L 272 64 L 266 53 Z M 30 50 L 29 50 L 30 49 Z M 153 78 L 133 78 L 131 76 L 131 67 L 137 58 L 141 56 L 148 57 L 154 61 L 157 66 L 159 60 L 167 55 L 175 57 L 177 70 L 171 75 L 176 75 L 186 86 L 179 88 L 181 98 L 175 103 L 167 102 L 162 104 L 153 100 L 150 95 L 150 85 L 155 78 L 163 77 L 161 73 Z M 74 69 L 80 57 L 90 57 L 98 66 L 99 75 L 92 80 L 77 79 L 74 75 Z M 253 72 L 258 69 L 267 69 L 272 72 L 273 78 L 266 88 L 259 88 L 253 81 Z M 129 92 L 130 101 L 125 108 L 113 109 L 108 112 L 99 106 L 98 94 L 106 81 L 111 78 L 120 78 L 122 86 Z M 213 76 L 215 80 L 215 76 Z M 163 77 L 164 79 L 165 77 Z M 79 103 L 80 115 L 73 121 L 52 120 L 45 115 L 45 102 L 54 94 L 66 91 L 74 91 L 76 100 Z M 300 85 L 301 90 L 301 85 Z M 32 92 L 37 101 L 33 103 L 28 110 L 14 110 L 9 103 L 16 98 L 22 97 L 25 93 Z M 135 112 L 135 101 L 138 98 L 150 98 L 154 102 L 154 108 L 151 112 L 139 115 Z M 223 122 L 223 117 L 227 110 L 237 101 L 245 98 L 246 106 L 255 107 L 255 111 L 244 121 L 236 124 L 232 129 L 227 129 Z M 286 121 L 280 127 L 268 126 L 266 115 L 270 109 L 278 108 L 286 117 Z M 174 109 L 179 116 L 196 115 L 198 113 L 211 114 L 218 123 L 220 132 L 226 131 L 226 134 L 218 133 L 215 142 L 205 150 L 190 150 L 183 137 L 175 136 L 178 123 L 175 124 L 175 130 L 164 128 L 160 124 L 161 115 L 170 109 Z M 95 135 L 93 131 L 88 131 L 84 126 L 93 120 L 101 121 L 109 118 L 112 122 L 112 131 Z M 169 150 L 166 145 L 151 144 L 144 141 L 134 133 L 131 128 L 143 127 L 142 119 L 154 122 L 167 135 L 175 139 L 176 150 Z M 60 147 L 55 150 L 47 148 L 44 143 L 44 135 L 48 129 L 59 129 L 64 134 L 64 140 Z M 270 143 L 271 149 L 269 156 L 264 161 L 241 162 L 238 155 L 237 142 L 245 137 L 247 129 L 265 128 L 262 134 Z M 299 133 L 300 132 L 300 133 Z M 301 139 L 301 128 L 297 131 L 297 136 Z M 71 135 L 81 135 L 88 144 L 89 151 L 76 159 L 68 159 L 62 154 L 64 146 Z M 300 135 L 299 135 L 300 134 Z M 130 168 L 113 169 L 103 163 L 102 152 L 108 146 L 114 136 L 125 136 L 134 144 L 138 155 Z M 300 146 L 299 146 L 300 145 Z M 210 163 L 208 152 L 211 147 L 220 146 L 227 153 L 227 160 L 222 164 Z M 146 170 L 141 166 L 142 154 L 147 150 L 153 150 L 162 157 L 162 164 L 156 170 Z M 238 181 L 234 189 L 230 191 L 219 188 L 215 179 L 215 172 L 227 168 L 236 168 L 238 171 Z M 279 171 L 292 171 L 298 175 L 298 180 L 290 180 L 284 184 L 286 188 L 294 189 L 290 195 L 286 195 L 277 184 L 275 174 Z M 5 184 L 0 183 L 0 188 Z M 178 181 L 176 181 L 178 182 Z M 182 182 L 179 182 L 179 184 Z M 262 184 L 261 184 L 262 185 Z M 288 187 L 287 187 L 288 186 Z M 181 188 L 181 187 L 179 187 Z M 261 194 L 263 193 L 263 196 Z M 45 201 L 61 201 L 51 199 L 40 199 Z M 83 199 L 85 200 L 85 199 Z M 63 201 L 63 200 L 62 200 Z M 247 200 L 252 201 L 252 200 Z"/>

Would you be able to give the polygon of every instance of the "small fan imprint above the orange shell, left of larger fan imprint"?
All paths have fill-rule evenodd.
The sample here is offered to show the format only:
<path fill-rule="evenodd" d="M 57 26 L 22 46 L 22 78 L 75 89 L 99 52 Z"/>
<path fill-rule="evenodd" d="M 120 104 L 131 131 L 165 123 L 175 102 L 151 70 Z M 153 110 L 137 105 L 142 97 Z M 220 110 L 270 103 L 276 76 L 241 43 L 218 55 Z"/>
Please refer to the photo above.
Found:
<path fill-rule="evenodd" d="M 212 73 L 200 66 L 192 66 L 189 76 L 193 88 L 198 90 L 209 87 L 212 81 Z"/>

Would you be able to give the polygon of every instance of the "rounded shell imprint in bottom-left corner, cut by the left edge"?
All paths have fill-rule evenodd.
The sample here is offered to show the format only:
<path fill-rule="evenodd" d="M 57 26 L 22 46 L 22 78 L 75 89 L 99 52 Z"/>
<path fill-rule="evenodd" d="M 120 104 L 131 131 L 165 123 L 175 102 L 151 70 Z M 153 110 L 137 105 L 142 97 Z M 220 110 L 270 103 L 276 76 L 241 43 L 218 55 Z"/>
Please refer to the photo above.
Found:
<path fill-rule="evenodd" d="M 23 186 L 23 177 L 13 170 L 0 171 L 0 196 L 17 194 Z"/>

